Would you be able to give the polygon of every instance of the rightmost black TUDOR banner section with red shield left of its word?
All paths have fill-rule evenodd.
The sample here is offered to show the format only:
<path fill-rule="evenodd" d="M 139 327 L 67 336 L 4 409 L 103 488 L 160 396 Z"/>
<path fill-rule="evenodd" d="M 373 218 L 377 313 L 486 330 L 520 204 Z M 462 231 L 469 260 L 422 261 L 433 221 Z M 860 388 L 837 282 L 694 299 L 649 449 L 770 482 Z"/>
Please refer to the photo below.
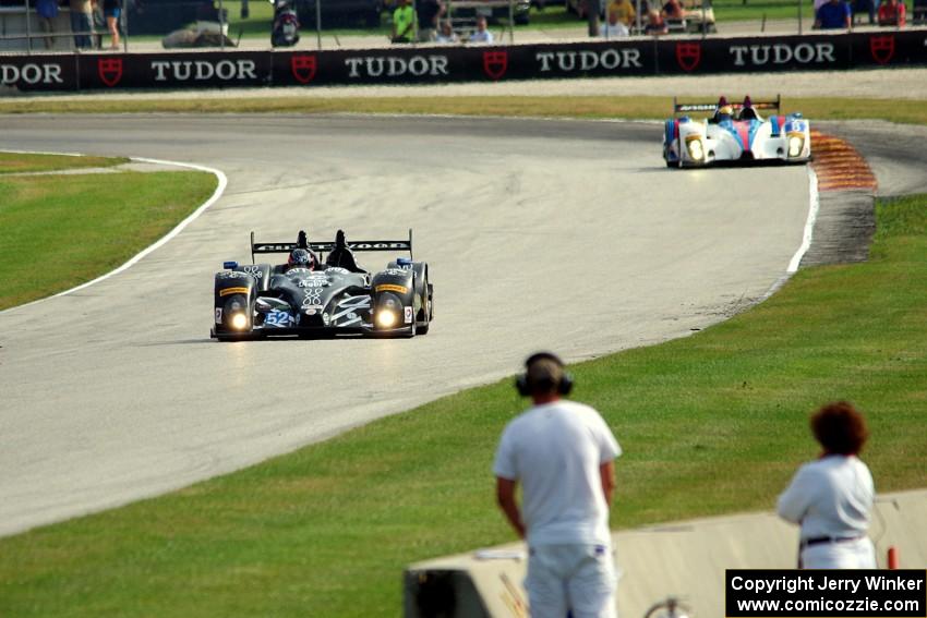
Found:
<path fill-rule="evenodd" d="M 848 69 L 846 43 L 828 35 L 661 40 L 658 71 L 695 74 Z"/>

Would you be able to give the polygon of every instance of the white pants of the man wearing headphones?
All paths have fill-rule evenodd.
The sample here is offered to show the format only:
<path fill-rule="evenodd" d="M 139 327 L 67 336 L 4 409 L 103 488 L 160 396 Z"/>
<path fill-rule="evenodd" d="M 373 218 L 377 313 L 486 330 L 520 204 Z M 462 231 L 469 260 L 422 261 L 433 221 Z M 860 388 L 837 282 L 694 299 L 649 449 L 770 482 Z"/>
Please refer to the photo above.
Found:
<path fill-rule="evenodd" d="M 531 547 L 525 587 L 531 618 L 616 618 L 615 561 L 607 545 Z"/>

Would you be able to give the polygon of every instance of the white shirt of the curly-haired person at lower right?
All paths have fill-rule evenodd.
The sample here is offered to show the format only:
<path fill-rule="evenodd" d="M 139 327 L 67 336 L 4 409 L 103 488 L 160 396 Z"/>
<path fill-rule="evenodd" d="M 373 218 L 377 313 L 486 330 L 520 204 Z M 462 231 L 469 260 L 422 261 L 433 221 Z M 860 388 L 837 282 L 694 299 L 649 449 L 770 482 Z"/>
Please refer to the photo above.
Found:
<path fill-rule="evenodd" d="M 779 496 L 778 512 L 802 525 L 802 538 L 866 534 L 872 510 L 872 475 L 856 457 L 831 455 L 798 469 Z"/>

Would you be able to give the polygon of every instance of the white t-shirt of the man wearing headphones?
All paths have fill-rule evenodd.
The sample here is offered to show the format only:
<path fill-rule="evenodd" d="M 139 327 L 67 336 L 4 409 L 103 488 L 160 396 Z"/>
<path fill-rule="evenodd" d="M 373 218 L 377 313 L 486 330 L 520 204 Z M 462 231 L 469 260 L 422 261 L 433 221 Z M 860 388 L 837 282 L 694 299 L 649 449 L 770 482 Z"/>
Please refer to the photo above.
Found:
<path fill-rule="evenodd" d="M 531 545 L 610 545 L 609 506 L 599 466 L 622 449 L 588 405 L 535 405 L 502 434 L 493 472 L 522 486 L 522 520 Z"/>

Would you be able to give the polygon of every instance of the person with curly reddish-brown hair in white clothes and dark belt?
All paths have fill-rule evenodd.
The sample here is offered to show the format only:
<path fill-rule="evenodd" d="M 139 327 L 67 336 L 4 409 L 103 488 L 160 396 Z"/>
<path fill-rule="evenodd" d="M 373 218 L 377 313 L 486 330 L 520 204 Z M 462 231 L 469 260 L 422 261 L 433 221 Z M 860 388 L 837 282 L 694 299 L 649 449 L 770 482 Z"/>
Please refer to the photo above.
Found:
<path fill-rule="evenodd" d="M 875 489 L 857 456 L 866 443 L 866 421 L 853 405 L 830 403 L 811 416 L 823 451 L 803 465 L 779 496 L 779 516 L 802 526 L 798 568 L 875 569 L 866 536 Z"/>

